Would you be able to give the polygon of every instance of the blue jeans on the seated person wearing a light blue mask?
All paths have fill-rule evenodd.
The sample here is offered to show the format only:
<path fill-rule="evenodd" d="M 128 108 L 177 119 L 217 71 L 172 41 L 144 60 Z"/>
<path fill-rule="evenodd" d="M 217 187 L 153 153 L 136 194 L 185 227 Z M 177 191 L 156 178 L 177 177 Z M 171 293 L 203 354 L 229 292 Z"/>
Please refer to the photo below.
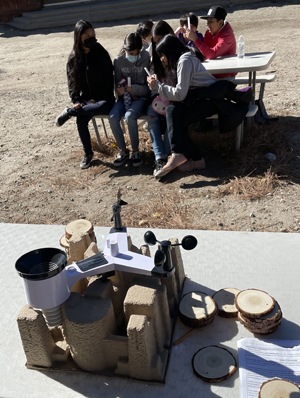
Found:
<path fill-rule="evenodd" d="M 132 150 L 135 151 L 139 149 L 139 130 L 137 119 L 141 116 L 144 105 L 145 98 L 139 98 L 136 101 L 132 101 L 128 111 L 125 111 L 125 106 L 122 98 L 115 103 L 112 110 L 110 111 L 108 120 L 119 149 L 126 148 L 124 132 L 120 124 L 121 119 L 124 115 L 128 125 Z"/>

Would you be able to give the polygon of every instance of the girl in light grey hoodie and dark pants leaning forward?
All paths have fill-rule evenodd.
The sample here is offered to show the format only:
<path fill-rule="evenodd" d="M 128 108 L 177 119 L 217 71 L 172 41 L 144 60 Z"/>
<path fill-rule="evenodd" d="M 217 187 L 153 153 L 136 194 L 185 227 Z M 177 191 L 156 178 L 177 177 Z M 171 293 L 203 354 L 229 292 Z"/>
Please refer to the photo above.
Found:
<path fill-rule="evenodd" d="M 159 43 L 156 51 L 162 62 L 170 68 L 177 69 L 176 87 L 159 82 L 156 75 L 147 79 L 150 88 L 158 90 L 163 99 L 174 101 L 174 104 L 167 108 L 166 113 L 172 154 L 161 172 L 156 175 L 156 178 L 161 178 L 181 165 L 184 169 L 182 171 L 205 167 L 202 156 L 199 154 L 199 159 L 196 158 L 195 144 L 188 134 L 184 135 L 184 140 L 182 139 L 178 117 L 185 117 L 186 107 L 182 101 L 185 100 L 189 90 L 197 87 L 209 87 L 216 82 L 216 79 L 202 65 L 203 55 L 197 49 L 186 47 L 172 35 L 167 35 Z M 187 164 L 183 167 L 185 163 Z"/>

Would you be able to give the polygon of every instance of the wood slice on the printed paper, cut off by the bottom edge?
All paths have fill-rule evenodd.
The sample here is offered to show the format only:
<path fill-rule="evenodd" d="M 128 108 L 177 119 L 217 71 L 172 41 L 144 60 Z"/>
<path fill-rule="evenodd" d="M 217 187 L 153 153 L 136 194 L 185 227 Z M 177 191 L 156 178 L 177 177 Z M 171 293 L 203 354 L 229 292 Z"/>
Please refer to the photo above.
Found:
<path fill-rule="evenodd" d="M 264 382 L 259 390 L 258 398 L 300 398 L 298 384 L 285 379 L 273 379 Z"/>

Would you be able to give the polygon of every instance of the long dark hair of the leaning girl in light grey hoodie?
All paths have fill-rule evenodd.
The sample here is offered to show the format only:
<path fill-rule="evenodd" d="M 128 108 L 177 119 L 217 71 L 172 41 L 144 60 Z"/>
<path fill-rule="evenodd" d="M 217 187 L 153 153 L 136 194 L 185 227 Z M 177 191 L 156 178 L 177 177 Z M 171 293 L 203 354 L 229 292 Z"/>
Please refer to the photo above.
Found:
<path fill-rule="evenodd" d="M 177 69 L 177 62 L 180 56 L 187 52 L 194 53 L 200 62 L 204 61 L 204 57 L 198 49 L 187 47 L 173 35 L 165 36 L 156 47 L 156 52 L 159 57 L 165 55 L 168 60 L 169 69 Z"/>

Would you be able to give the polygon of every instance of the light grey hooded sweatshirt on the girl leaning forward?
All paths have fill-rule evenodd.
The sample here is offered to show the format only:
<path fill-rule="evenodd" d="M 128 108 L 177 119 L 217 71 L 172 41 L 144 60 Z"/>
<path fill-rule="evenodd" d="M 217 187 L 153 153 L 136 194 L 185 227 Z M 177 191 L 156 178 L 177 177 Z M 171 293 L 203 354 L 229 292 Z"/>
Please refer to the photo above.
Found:
<path fill-rule="evenodd" d="M 154 89 L 164 100 L 183 101 L 190 88 L 208 87 L 216 79 L 205 69 L 201 61 L 191 52 L 183 53 L 177 63 L 177 85 L 167 86 L 156 81 Z"/>

